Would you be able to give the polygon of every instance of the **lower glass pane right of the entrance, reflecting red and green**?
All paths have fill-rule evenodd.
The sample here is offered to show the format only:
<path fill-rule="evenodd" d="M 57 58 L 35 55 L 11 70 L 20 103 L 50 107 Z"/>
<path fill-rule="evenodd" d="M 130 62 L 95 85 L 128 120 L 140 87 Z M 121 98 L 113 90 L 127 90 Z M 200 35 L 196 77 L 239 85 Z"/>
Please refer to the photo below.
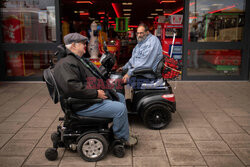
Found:
<path fill-rule="evenodd" d="M 240 50 L 188 50 L 188 75 L 239 75 Z"/>

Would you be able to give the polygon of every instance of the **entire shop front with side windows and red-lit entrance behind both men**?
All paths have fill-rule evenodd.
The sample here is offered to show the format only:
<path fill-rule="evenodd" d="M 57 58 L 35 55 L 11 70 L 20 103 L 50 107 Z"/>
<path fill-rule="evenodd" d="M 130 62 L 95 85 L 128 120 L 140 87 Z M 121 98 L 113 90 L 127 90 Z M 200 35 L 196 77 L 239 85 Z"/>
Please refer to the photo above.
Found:
<path fill-rule="evenodd" d="M 0 5 L 0 80 L 42 80 L 48 60 L 70 32 L 94 36 L 94 56 L 90 51 L 86 56 L 96 65 L 106 41 L 116 68 L 122 66 L 137 44 L 141 22 L 159 38 L 163 53 L 183 64 L 181 80 L 249 79 L 247 0 L 9 0 Z"/>

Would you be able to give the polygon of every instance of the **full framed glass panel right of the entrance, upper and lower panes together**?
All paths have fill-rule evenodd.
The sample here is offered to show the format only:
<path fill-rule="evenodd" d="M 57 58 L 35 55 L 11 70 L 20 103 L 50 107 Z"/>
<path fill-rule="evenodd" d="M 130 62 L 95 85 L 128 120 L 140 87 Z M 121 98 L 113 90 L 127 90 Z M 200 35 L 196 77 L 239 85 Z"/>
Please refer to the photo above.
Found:
<path fill-rule="evenodd" d="M 248 79 L 246 0 L 188 0 L 185 5 L 183 79 Z"/>

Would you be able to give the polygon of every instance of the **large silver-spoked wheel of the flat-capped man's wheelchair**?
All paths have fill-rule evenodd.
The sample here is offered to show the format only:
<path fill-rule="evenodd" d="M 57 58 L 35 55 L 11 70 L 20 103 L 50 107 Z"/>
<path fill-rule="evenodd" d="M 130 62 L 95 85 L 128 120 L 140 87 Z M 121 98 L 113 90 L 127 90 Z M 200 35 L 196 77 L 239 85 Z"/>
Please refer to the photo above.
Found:
<path fill-rule="evenodd" d="M 101 134 L 90 133 L 79 140 L 77 152 L 82 159 L 89 162 L 96 162 L 103 159 L 107 154 L 108 142 Z"/>

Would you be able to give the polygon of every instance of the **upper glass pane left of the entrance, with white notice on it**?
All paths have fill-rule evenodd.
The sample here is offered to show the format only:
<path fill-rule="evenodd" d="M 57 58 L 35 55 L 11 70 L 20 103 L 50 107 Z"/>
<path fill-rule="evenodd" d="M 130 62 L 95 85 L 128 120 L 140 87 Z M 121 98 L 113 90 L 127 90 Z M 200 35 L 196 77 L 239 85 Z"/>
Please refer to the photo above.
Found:
<path fill-rule="evenodd" d="M 56 42 L 54 0 L 9 0 L 2 8 L 3 42 Z"/>

